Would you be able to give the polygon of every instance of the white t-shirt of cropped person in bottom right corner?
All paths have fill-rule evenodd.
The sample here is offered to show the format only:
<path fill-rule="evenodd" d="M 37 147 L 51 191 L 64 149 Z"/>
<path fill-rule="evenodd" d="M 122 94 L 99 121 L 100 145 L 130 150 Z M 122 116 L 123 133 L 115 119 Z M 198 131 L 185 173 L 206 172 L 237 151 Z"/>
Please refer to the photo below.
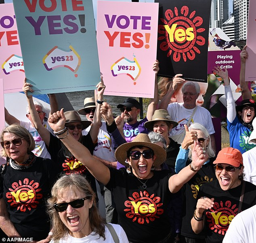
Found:
<path fill-rule="evenodd" d="M 237 214 L 222 243 L 252 243 L 256 240 L 256 205 Z"/>

